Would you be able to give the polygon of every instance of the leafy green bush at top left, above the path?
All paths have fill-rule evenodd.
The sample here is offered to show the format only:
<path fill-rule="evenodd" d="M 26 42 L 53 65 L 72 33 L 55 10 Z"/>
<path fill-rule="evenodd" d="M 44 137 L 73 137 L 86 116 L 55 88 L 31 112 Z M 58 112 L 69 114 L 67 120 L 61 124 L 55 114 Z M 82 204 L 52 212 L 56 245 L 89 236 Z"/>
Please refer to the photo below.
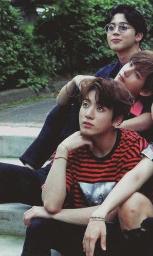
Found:
<path fill-rule="evenodd" d="M 1 0 L 0 25 L 0 89 L 28 86 L 40 91 L 54 72 L 41 38 L 9 0 Z"/>

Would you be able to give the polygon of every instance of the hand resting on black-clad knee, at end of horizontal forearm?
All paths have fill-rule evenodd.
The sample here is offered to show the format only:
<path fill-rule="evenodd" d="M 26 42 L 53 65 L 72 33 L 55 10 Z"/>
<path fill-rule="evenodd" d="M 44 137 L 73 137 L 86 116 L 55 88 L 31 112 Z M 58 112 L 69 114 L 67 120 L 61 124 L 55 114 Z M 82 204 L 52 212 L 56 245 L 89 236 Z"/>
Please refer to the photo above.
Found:
<path fill-rule="evenodd" d="M 23 214 L 23 222 L 25 223 L 26 226 L 30 226 L 30 220 L 32 218 L 46 218 L 49 219 L 51 218 L 51 214 L 45 210 L 43 206 L 32 206 L 29 210 L 27 210 Z"/>

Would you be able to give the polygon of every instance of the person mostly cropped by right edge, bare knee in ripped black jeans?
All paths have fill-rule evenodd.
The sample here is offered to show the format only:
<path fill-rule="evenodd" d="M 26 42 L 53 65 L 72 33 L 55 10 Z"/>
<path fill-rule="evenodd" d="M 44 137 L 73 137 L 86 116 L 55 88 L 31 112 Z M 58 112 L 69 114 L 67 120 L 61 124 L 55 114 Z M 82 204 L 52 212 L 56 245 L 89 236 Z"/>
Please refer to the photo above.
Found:
<path fill-rule="evenodd" d="M 145 197 L 139 193 L 143 184 L 153 175 L 152 143 L 142 151 L 142 154 L 145 156 L 143 160 L 121 178 L 102 205 L 91 214 L 91 217 L 94 216 L 94 218 L 106 218 L 112 210 L 119 208 L 119 221 L 122 229 L 126 229 L 124 235 L 128 236 L 124 255 L 128 251 L 130 256 L 152 256 L 153 254 L 152 195 L 150 202 L 148 201 L 146 205 Z M 152 214 L 146 214 L 146 210 Z M 93 256 L 98 238 L 100 238 L 101 248 L 106 249 L 106 225 L 104 221 L 99 223 L 91 221 L 88 223 L 84 235 L 84 251 L 86 251 L 87 256 Z M 134 245 L 136 245 L 135 248 Z"/>

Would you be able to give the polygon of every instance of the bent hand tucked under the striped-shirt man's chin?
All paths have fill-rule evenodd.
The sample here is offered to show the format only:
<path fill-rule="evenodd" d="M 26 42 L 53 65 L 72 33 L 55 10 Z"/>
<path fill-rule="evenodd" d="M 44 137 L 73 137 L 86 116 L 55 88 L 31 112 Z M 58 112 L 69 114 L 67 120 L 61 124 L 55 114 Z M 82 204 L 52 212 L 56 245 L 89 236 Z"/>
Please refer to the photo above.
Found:
<path fill-rule="evenodd" d="M 90 149 L 93 150 L 93 142 L 91 139 L 82 134 L 81 131 L 75 132 L 70 135 L 60 145 L 63 145 L 67 148 L 67 150 L 71 151 L 74 149 L 78 149 L 84 145 L 89 145 Z"/>

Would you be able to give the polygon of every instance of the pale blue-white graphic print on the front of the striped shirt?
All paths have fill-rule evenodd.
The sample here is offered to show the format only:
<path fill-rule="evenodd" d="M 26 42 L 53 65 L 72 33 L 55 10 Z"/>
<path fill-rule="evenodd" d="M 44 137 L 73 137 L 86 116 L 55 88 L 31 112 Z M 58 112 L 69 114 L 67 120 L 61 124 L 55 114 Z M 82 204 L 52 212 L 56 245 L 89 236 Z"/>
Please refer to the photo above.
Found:
<path fill-rule="evenodd" d="M 113 189 L 115 182 L 86 183 L 78 182 L 83 193 L 84 203 L 82 207 L 101 205 L 108 193 Z"/>

